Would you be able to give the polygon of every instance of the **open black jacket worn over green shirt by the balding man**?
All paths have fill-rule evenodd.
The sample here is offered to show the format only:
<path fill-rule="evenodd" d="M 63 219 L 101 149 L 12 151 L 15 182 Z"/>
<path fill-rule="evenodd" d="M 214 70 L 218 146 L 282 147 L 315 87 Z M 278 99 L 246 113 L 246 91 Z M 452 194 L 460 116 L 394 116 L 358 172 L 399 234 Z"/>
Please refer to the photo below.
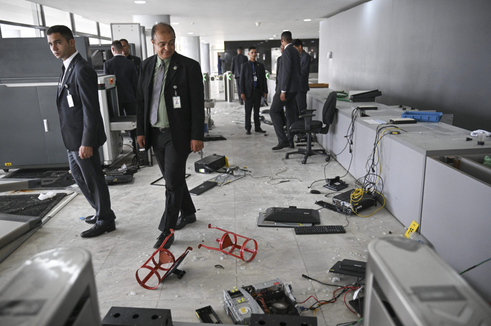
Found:
<path fill-rule="evenodd" d="M 151 147 L 150 102 L 157 55 L 142 62 L 137 91 L 137 135 L 145 135 L 145 149 Z M 191 139 L 204 139 L 204 87 L 199 64 L 179 53 L 172 56 L 165 78 L 164 98 L 172 143 L 176 151 L 191 152 Z M 175 88 L 174 88 L 175 87 Z M 181 97 L 181 108 L 174 108 L 175 92 Z"/>

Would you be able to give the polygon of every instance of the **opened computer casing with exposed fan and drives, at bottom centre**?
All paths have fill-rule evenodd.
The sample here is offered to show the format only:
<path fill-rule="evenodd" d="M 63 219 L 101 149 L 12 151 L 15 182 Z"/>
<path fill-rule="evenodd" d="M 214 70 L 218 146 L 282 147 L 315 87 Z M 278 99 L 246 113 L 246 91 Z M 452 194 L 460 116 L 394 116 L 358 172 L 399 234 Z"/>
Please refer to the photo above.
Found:
<path fill-rule="evenodd" d="M 290 285 L 278 278 L 232 290 L 224 290 L 224 308 L 236 325 L 249 325 L 252 314 L 300 315 Z"/>

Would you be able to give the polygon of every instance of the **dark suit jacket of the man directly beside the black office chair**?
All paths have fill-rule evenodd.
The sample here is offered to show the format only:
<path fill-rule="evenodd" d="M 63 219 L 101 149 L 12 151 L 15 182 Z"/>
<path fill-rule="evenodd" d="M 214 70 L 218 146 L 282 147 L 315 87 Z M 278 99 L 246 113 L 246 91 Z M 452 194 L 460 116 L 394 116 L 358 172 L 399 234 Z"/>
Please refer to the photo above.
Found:
<path fill-rule="evenodd" d="M 300 54 L 293 44 L 288 45 L 281 54 L 278 68 L 276 92 L 298 92 L 300 90 Z"/>

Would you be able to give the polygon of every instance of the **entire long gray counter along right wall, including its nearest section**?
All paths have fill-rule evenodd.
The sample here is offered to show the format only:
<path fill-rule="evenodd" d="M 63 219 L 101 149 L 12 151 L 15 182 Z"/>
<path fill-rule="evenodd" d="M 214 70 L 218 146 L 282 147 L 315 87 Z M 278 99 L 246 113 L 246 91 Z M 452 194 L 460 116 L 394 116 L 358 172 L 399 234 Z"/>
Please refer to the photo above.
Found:
<path fill-rule="evenodd" d="M 316 109 L 317 120 L 322 120 L 322 107 L 330 91 L 317 89 L 307 93 L 309 107 Z M 370 117 L 356 118 L 350 165 L 348 150 L 341 151 L 346 145 L 344 136 L 349 132 L 351 112 L 358 105 L 375 105 L 378 110 L 366 111 Z M 318 140 L 331 154 L 341 153 L 336 159 L 355 178 L 363 177 L 378 126 L 367 120 L 388 122 L 390 118 L 400 117 L 403 110 L 380 103 L 343 101 L 338 101 L 337 108 L 329 133 L 317 135 Z M 465 140 L 469 130 L 444 123 L 397 127 L 405 131 L 384 136 L 378 148 L 386 208 L 406 227 L 413 220 L 418 222 L 421 233 L 457 272 L 489 258 L 491 169 L 481 163 L 484 155 L 491 153 L 491 137 L 480 146 L 475 137 L 472 141 Z M 466 156 L 475 161 L 475 166 L 467 162 L 465 168 L 461 166 L 458 170 L 434 159 L 449 155 Z M 488 300 L 491 299 L 490 266 L 488 263 L 463 274 Z"/>

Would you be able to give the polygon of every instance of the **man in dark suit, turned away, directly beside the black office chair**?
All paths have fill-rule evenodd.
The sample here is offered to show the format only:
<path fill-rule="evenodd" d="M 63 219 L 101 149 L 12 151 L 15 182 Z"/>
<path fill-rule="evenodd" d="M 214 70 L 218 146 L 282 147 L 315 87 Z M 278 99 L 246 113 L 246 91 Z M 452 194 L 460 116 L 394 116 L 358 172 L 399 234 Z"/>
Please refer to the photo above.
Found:
<path fill-rule="evenodd" d="M 273 151 L 290 147 L 294 148 L 293 134 L 290 133 L 290 125 L 295 121 L 297 106 L 295 97 L 300 89 L 300 56 L 292 45 L 292 33 L 289 31 L 281 34 L 281 44 L 284 46 L 279 62 L 276 92 L 273 96 L 269 116 L 273 123 L 274 131 L 278 137 L 278 145 Z M 285 107 L 287 134 L 283 130 L 281 110 Z"/>

